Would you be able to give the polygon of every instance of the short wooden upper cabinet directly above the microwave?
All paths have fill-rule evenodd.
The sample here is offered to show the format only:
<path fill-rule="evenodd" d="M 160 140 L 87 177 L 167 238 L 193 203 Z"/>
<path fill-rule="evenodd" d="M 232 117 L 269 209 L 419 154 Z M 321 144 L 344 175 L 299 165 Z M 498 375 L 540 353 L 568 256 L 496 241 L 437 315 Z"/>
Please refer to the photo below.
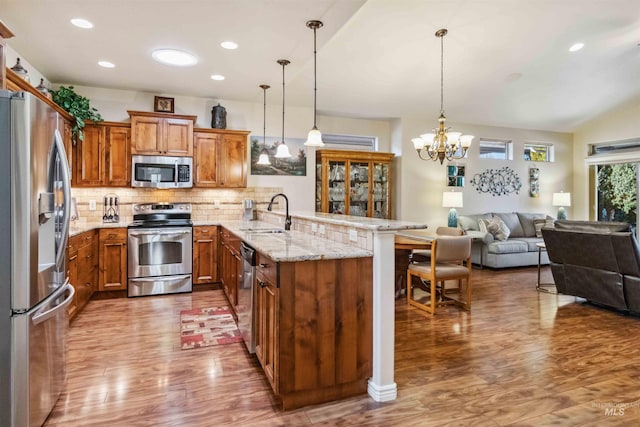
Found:
<path fill-rule="evenodd" d="M 197 116 L 129 111 L 131 154 L 193 156 Z"/>

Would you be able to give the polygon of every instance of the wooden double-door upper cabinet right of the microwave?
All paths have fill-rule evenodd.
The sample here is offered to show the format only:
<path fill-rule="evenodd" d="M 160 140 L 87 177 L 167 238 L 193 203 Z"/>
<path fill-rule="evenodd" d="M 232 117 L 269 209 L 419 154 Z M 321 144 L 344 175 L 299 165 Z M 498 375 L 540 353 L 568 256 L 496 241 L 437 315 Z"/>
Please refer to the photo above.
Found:
<path fill-rule="evenodd" d="M 248 131 L 196 129 L 194 185 L 245 188 L 248 134 Z"/>

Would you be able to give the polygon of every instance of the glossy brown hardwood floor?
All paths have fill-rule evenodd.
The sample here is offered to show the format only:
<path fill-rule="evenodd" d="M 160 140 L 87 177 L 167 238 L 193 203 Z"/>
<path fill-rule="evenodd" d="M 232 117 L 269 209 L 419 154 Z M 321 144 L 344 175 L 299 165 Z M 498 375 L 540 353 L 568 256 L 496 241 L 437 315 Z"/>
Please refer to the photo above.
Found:
<path fill-rule="evenodd" d="M 290 412 L 242 343 L 179 348 L 180 310 L 226 305 L 222 291 L 91 301 L 71 326 L 67 391 L 45 425 L 640 425 L 639 317 L 536 292 L 535 268 L 472 278 L 471 312 L 430 316 L 397 300 L 397 400 Z M 615 404 L 627 406 L 607 413 Z"/>

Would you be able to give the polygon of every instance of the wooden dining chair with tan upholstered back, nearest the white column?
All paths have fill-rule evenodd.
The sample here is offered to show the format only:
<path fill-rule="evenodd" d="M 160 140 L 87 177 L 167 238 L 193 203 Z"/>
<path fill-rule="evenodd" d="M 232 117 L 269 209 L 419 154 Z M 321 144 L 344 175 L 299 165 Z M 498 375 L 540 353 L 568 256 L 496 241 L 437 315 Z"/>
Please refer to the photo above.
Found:
<path fill-rule="evenodd" d="M 427 285 L 428 303 L 416 299 L 414 277 Z M 458 281 L 458 288 L 446 290 L 444 282 L 447 280 Z M 442 283 L 440 296 L 437 295 L 438 283 Z M 453 296 L 455 294 L 457 297 Z M 409 264 L 407 302 L 431 314 L 435 314 L 437 306 L 448 304 L 471 309 L 471 237 L 438 236 L 431 244 L 428 262 Z"/>

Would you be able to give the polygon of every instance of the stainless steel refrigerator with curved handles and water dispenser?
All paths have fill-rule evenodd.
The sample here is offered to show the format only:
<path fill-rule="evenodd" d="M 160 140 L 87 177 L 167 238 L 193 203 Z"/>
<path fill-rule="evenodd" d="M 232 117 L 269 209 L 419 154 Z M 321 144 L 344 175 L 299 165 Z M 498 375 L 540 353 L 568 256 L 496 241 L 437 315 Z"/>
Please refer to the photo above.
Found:
<path fill-rule="evenodd" d="M 66 381 L 71 184 L 58 113 L 0 91 L 0 426 L 40 426 Z"/>

